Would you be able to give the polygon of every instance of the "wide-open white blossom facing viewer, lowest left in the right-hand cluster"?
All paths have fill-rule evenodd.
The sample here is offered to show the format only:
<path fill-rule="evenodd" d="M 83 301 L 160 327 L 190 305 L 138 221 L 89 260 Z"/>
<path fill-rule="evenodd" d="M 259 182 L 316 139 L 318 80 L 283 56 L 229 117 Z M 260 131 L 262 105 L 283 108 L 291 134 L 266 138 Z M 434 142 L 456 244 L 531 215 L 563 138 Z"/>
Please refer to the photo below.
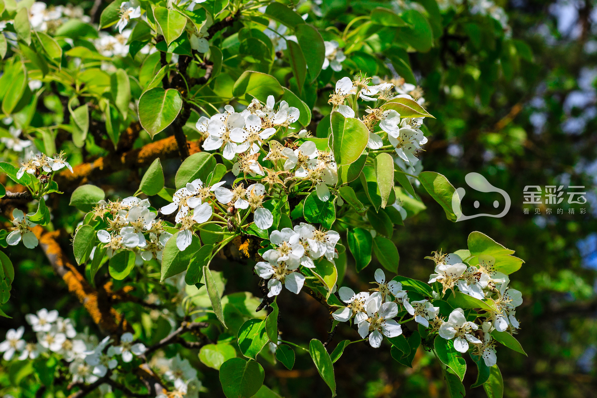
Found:
<path fill-rule="evenodd" d="M 359 322 L 359 335 L 366 338 L 369 335 L 369 344 L 371 347 L 378 348 L 381 345 L 383 336 L 397 337 L 402 334 L 402 328 L 392 318 L 398 315 L 398 304 L 381 303 L 381 294 L 372 294 L 365 301 L 365 310 L 367 319 Z"/>

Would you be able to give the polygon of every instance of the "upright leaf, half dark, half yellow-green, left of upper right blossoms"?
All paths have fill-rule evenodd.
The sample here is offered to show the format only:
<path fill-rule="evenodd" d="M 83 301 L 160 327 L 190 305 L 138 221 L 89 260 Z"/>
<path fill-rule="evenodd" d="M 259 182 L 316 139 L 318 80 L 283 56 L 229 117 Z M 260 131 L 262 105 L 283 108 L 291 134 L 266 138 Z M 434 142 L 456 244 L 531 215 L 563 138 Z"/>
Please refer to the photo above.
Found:
<path fill-rule="evenodd" d="M 356 161 L 367 147 L 369 129 L 359 119 L 344 118 L 336 111 L 331 115 L 331 128 L 337 165 L 349 165 Z"/>

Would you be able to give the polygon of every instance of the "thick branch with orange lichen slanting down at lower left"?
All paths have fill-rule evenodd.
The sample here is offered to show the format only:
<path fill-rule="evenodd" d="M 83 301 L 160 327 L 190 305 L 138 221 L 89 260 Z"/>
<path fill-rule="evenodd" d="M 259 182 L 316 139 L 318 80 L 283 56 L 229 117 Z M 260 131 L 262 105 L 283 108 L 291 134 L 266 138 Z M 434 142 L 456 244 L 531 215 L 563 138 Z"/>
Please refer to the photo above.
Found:
<path fill-rule="evenodd" d="M 74 294 L 83 304 L 93 322 L 102 331 L 109 334 L 130 331 L 131 327 L 127 321 L 122 319 L 121 314 L 107 304 L 105 292 L 93 288 L 64 255 L 56 241 L 60 232 L 44 232 L 41 226 L 33 227 L 32 231 L 38 237 L 39 246 L 48 257 L 54 272 L 64 280 L 69 292 Z"/>

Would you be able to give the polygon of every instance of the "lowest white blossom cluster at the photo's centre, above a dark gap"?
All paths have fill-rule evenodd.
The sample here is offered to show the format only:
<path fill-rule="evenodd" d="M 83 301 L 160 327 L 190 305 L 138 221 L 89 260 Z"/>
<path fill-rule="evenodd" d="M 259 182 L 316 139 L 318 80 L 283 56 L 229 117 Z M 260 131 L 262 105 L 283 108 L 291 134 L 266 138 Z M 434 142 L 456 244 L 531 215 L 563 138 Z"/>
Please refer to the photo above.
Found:
<path fill-rule="evenodd" d="M 294 229 L 273 231 L 269 240 L 273 248 L 263 253 L 265 261 L 259 261 L 255 271 L 263 279 L 269 279 L 267 296 L 273 297 L 280 294 L 282 285 L 294 294 L 301 291 L 305 277 L 298 270 L 300 266 L 314 268 L 313 260 L 323 256 L 333 263 L 338 257 L 336 243 L 340 235 L 336 231 L 323 231 L 300 223 Z"/>

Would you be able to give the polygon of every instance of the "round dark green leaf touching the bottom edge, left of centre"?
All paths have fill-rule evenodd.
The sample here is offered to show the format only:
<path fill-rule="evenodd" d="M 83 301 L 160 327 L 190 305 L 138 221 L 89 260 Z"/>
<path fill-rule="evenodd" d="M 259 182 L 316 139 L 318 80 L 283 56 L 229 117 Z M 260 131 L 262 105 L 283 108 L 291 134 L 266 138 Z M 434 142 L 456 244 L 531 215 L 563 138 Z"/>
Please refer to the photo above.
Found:
<path fill-rule="evenodd" d="M 264 378 L 263 368 L 254 360 L 232 358 L 220 366 L 220 382 L 227 398 L 253 397 Z"/>

